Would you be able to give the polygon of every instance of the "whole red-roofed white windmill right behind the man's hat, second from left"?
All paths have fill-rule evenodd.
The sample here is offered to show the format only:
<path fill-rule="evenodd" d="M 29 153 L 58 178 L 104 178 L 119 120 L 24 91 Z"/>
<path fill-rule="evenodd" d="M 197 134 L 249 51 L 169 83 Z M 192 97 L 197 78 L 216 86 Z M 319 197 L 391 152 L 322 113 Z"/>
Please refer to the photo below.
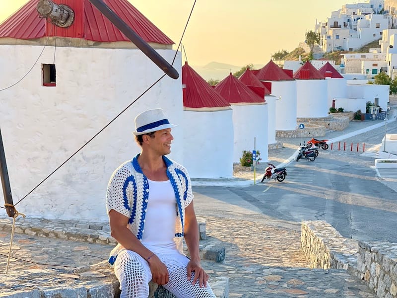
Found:
<path fill-rule="evenodd" d="M 192 178 L 233 177 L 233 111 L 188 63 L 182 67 L 184 166 Z"/>

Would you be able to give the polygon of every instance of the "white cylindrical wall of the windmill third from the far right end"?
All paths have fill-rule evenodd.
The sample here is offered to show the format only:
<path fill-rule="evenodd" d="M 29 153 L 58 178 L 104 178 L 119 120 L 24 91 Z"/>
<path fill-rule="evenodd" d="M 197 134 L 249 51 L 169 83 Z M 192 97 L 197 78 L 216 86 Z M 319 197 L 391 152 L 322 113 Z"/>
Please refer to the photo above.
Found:
<path fill-rule="evenodd" d="M 295 80 L 272 81 L 271 94 L 274 95 L 276 98 L 275 130 L 276 131 L 295 130 L 296 81 Z"/>

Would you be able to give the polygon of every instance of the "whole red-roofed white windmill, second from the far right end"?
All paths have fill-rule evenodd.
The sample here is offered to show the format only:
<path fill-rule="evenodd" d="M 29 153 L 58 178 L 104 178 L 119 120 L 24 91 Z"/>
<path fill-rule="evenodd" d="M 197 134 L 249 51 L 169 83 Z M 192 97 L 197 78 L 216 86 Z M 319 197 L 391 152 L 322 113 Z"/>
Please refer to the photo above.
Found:
<path fill-rule="evenodd" d="M 324 75 L 308 61 L 294 73 L 294 78 L 297 94 L 296 117 L 327 117 L 328 85 Z"/>

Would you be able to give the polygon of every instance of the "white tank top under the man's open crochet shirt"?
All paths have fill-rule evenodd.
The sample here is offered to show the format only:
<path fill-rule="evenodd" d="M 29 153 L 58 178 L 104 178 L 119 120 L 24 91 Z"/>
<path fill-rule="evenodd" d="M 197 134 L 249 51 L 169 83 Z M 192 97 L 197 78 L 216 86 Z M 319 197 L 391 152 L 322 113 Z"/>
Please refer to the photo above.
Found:
<path fill-rule="evenodd" d="M 149 198 L 142 234 L 143 245 L 175 248 L 177 204 L 170 180 L 149 182 Z"/>

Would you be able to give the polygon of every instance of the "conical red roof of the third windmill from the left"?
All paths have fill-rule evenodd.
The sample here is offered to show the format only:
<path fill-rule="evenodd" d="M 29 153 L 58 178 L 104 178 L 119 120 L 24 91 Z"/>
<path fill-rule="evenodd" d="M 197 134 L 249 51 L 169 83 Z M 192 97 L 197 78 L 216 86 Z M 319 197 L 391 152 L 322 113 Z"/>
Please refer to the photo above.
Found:
<path fill-rule="evenodd" d="M 229 103 L 264 103 L 265 98 L 248 88 L 233 74 L 216 84 L 215 90 Z"/>

